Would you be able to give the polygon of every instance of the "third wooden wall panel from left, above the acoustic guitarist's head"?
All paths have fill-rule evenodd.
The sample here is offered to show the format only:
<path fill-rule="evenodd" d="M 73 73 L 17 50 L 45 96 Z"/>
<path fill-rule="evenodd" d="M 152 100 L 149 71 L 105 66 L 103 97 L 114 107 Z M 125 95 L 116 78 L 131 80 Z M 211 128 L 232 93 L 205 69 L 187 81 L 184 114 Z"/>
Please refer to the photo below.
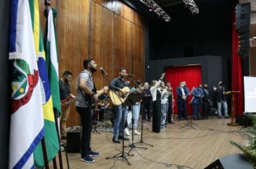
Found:
<path fill-rule="evenodd" d="M 114 72 L 124 67 L 132 72 L 132 24 L 127 19 L 114 14 Z"/>

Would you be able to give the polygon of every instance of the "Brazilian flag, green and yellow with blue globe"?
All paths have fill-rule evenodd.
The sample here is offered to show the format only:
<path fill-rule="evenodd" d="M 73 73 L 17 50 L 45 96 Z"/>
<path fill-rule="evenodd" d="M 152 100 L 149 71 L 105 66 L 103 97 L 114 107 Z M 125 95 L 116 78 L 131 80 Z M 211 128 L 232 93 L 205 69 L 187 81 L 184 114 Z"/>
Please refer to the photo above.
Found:
<path fill-rule="evenodd" d="M 50 82 L 45 62 L 45 49 L 42 40 L 38 1 L 29 0 L 29 8 L 32 19 L 35 53 L 37 55 L 37 66 L 40 73 L 40 91 L 42 95 L 42 110 L 45 128 L 45 147 L 47 149 L 47 159 L 50 161 L 58 153 L 58 150 L 60 150 L 60 143 L 58 141 L 58 132 L 55 126 Z M 45 166 L 41 143 L 37 145 L 37 148 L 35 148 L 34 160 L 37 168 L 43 168 Z"/>

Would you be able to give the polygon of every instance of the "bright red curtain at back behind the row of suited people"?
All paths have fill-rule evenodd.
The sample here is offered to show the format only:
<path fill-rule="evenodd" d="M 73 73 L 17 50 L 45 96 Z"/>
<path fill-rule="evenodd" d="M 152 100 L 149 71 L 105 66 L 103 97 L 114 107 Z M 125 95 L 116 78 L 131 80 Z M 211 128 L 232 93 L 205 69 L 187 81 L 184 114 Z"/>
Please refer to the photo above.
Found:
<path fill-rule="evenodd" d="M 201 79 L 201 65 L 180 66 L 180 67 L 166 67 L 165 79 L 170 82 L 173 87 L 173 95 L 175 99 L 175 114 L 178 113 L 176 88 L 180 81 L 186 81 L 188 90 L 191 91 L 193 87 L 198 87 L 202 82 Z M 192 99 L 192 95 L 188 97 L 188 102 Z M 192 107 L 188 105 L 188 115 L 192 115 Z"/>

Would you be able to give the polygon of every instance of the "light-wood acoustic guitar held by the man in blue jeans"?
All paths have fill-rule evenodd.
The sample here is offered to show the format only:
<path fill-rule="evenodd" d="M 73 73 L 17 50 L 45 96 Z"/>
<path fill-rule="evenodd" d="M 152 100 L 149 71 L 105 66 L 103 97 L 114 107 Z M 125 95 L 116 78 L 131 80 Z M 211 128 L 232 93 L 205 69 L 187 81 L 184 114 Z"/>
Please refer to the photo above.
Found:
<path fill-rule="evenodd" d="M 113 91 L 113 90 L 109 90 L 109 97 L 113 103 L 113 105 L 122 105 L 122 103 L 125 102 L 125 100 L 127 99 L 127 96 L 129 95 L 129 93 L 131 92 L 140 92 L 142 91 L 142 87 L 141 88 L 137 88 L 136 90 L 129 90 L 129 87 L 124 87 L 122 88 L 122 90 L 124 90 L 125 92 L 127 92 L 127 95 L 122 95 L 121 92 L 117 92 L 117 91 Z"/>

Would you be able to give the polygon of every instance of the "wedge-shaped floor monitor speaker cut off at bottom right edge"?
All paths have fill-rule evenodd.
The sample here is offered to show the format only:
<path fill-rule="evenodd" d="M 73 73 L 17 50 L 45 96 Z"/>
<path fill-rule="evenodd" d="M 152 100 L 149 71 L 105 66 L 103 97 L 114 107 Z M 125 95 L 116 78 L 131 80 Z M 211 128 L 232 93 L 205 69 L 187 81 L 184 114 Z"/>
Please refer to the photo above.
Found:
<path fill-rule="evenodd" d="M 253 169 L 242 154 L 226 155 L 208 165 L 205 169 Z"/>

